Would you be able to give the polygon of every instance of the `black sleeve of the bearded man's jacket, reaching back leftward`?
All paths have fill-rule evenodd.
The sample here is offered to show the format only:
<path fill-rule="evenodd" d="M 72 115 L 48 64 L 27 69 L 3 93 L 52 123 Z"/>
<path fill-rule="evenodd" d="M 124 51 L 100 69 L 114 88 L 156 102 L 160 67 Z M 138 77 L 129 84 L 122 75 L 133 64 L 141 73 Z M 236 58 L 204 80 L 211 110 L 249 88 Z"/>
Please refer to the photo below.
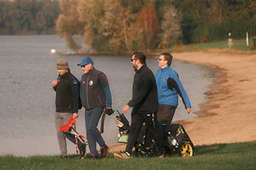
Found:
<path fill-rule="evenodd" d="M 153 77 L 154 78 L 154 77 Z M 128 102 L 129 107 L 135 107 L 140 101 L 145 98 L 145 96 L 148 93 L 148 90 L 152 87 L 152 77 L 148 74 L 141 77 L 141 82 L 136 82 L 136 85 L 134 86 L 134 92 L 132 95 L 132 100 Z"/>

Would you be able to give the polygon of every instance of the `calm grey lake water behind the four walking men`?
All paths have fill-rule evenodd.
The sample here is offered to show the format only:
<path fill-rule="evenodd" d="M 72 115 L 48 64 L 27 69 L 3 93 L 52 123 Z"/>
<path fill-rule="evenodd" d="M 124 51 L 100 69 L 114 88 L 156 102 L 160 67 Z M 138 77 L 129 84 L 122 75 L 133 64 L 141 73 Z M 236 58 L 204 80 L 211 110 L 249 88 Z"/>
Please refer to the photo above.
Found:
<path fill-rule="evenodd" d="M 53 155 L 59 154 L 54 125 L 55 92 L 51 82 L 58 76 L 56 61 L 66 58 L 71 72 L 80 79 L 83 72 L 77 66 L 84 56 L 61 56 L 50 49 L 67 53 L 59 36 L 0 36 L 0 154 Z M 96 69 L 105 72 L 113 95 L 113 107 L 121 110 L 132 97 L 134 71 L 129 56 L 93 56 Z M 157 71 L 157 59 L 148 58 L 148 66 Z M 192 101 L 193 112 L 205 101 L 203 93 L 212 80 L 204 66 L 174 61 L 173 68 Z M 187 115 L 179 101 L 174 120 L 195 117 Z M 77 128 L 85 134 L 83 110 L 79 111 Z M 128 119 L 129 114 L 128 114 Z M 117 144 L 118 130 L 114 115 L 106 116 L 104 139 L 108 145 Z M 75 146 L 68 143 L 68 152 Z"/>

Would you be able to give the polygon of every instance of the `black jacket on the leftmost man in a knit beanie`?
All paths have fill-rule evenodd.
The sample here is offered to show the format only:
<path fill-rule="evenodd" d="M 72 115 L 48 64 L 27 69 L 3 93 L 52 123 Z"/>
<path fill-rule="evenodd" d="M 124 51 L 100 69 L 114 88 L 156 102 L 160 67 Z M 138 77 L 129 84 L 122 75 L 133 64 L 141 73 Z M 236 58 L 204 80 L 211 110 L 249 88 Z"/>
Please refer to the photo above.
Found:
<path fill-rule="evenodd" d="M 80 103 L 78 79 L 67 72 L 59 75 L 58 80 L 58 85 L 53 87 L 56 91 L 56 112 L 77 113 Z"/>

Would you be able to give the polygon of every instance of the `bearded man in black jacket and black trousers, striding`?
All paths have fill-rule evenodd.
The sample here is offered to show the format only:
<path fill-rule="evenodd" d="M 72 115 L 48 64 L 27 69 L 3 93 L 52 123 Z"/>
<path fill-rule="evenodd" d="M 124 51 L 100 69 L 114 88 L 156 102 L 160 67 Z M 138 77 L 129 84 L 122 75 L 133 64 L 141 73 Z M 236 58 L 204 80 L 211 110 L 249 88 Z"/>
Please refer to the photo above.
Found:
<path fill-rule="evenodd" d="M 143 53 L 133 53 L 131 63 L 135 69 L 132 100 L 123 107 L 122 112 L 125 114 L 128 109 L 132 107 L 132 123 L 129 128 L 129 139 L 126 152 L 121 154 L 115 153 L 114 157 L 131 157 L 132 147 L 134 147 L 138 135 L 140 134 L 140 129 L 143 123 L 145 123 L 148 132 L 153 136 L 157 145 L 159 158 L 162 158 L 162 138 L 159 134 L 159 127 L 157 125 L 157 84 L 154 79 L 154 74 L 148 69 L 148 66 L 146 66 L 146 56 Z"/>

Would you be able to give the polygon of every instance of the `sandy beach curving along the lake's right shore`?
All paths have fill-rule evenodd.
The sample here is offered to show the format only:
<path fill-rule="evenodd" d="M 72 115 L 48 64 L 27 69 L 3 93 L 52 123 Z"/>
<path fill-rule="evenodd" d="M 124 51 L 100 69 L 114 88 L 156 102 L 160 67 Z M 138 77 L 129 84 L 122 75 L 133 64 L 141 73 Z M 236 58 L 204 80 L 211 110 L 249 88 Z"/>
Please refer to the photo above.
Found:
<path fill-rule="evenodd" d="M 195 145 L 256 140 L 256 55 L 240 53 L 173 53 L 174 60 L 210 66 L 214 82 L 198 117 L 178 121 Z M 124 150 L 124 144 L 111 147 Z"/>

